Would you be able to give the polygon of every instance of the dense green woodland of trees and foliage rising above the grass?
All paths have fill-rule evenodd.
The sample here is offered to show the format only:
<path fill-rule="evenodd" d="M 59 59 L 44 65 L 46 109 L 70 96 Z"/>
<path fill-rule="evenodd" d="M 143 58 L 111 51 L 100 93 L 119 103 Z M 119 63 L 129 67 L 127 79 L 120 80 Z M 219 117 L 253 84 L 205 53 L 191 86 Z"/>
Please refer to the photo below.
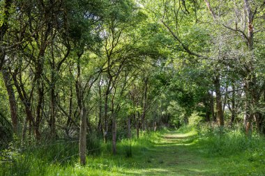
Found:
<path fill-rule="evenodd" d="M 116 154 L 123 138 L 191 117 L 265 134 L 262 0 L 0 7 L 1 149 L 77 140 L 85 164 L 91 136 Z"/>

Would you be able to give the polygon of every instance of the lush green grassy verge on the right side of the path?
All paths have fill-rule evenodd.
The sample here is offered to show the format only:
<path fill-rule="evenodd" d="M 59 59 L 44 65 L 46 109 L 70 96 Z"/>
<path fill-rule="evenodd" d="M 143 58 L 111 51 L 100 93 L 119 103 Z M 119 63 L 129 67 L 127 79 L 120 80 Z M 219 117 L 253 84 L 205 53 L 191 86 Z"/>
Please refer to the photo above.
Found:
<path fill-rule="evenodd" d="M 204 123 L 178 130 L 183 131 L 191 134 L 187 139 L 192 143 L 190 150 L 209 164 L 209 175 L 265 175 L 264 136 L 255 132 L 245 135 L 240 126 Z"/>

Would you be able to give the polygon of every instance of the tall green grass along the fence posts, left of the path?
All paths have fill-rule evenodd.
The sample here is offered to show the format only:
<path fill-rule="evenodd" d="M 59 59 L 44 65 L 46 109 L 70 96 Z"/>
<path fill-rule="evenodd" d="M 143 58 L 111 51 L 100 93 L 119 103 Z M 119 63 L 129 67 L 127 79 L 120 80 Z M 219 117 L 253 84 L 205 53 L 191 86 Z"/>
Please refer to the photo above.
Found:
<path fill-rule="evenodd" d="M 87 136 L 88 164 L 79 166 L 78 140 L 54 141 L 43 145 L 10 145 L 2 151 L 0 175 L 106 175 L 121 170 L 126 160 L 142 157 L 159 141 L 159 133 L 142 132 L 139 138 L 121 139 L 118 154 L 112 156 L 112 143 L 103 143 L 96 134 Z M 93 174 L 92 174 L 93 173 Z"/>

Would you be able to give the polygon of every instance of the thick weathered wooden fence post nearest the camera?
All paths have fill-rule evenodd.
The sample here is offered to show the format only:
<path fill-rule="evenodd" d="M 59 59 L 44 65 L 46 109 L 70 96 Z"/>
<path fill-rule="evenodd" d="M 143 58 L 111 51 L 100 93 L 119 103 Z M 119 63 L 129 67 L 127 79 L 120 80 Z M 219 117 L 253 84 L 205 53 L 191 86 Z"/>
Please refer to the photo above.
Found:
<path fill-rule="evenodd" d="M 86 165 L 86 113 L 86 109 L 82 107 L 79 132 L 79 157 L 82 166 Z"/>

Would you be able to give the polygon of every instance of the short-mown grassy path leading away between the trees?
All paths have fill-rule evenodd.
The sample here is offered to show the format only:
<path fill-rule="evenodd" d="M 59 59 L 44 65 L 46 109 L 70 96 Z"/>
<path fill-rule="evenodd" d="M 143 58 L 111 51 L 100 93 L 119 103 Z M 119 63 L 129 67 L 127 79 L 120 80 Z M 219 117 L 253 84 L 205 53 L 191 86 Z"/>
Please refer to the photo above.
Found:
<path fill-rule="evenodd" d="M 176 131 L 162 136 L 160 143 L 146 155 L 142 169 L 132 175 L 213 175 L 209 163 L 200 156 L 188 134 Z"/>

